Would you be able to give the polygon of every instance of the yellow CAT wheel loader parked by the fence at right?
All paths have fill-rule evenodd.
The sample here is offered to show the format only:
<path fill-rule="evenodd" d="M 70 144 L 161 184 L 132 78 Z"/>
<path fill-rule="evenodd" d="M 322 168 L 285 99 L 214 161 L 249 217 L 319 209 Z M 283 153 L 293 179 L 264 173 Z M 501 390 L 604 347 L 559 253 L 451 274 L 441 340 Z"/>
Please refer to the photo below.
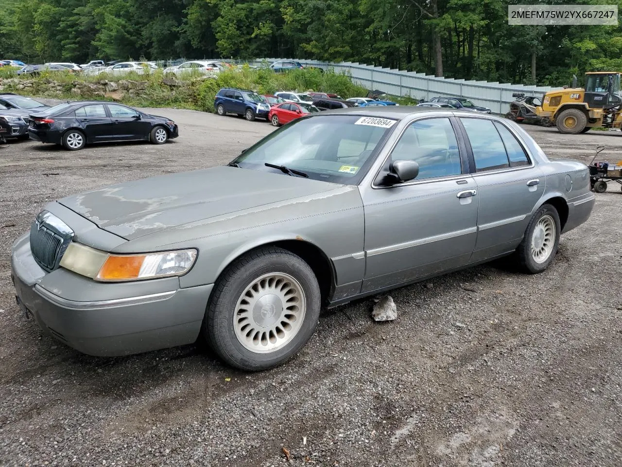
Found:
<path fill-rule="evenodd" d="M 536 114 L 560 133 L 578 134 L 590 128 L 622 127 L 619 72 L 585 73 L 585 89 L 573 87 L 544 95 Z"/>

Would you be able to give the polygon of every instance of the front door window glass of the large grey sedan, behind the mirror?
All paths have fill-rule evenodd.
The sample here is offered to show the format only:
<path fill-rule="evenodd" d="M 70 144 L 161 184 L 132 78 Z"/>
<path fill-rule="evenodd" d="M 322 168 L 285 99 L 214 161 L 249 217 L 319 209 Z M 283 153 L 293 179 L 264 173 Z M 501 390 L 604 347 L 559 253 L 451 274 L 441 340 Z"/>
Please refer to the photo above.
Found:
<path fill-rule="evenodd" d="M 417 180 L 462 173 L 458 141 L 448 118 L 419 120 L 406 128 L 389 161 L 399 159 L 419 164 Z"/>

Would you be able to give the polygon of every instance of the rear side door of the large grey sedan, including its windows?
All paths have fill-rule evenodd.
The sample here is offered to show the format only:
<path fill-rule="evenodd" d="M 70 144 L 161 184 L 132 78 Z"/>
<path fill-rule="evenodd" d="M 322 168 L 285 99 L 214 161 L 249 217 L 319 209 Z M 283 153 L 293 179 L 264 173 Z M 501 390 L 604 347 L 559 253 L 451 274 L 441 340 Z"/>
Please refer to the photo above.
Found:
<path fill-rule="evenodd" d="M 473 261 L 480 261 L 518 247 L 544 194 L 545 177 L 507 126 L 486 118 L 459 120 L 475 161 L 480 214 Z"/>

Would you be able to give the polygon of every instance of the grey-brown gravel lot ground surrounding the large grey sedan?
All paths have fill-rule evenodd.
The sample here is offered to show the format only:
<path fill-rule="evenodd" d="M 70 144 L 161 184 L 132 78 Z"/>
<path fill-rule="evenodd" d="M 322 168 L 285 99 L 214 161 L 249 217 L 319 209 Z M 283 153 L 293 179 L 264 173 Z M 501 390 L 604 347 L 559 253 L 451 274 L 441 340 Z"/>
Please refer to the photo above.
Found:
<path fill-rule="evenodd" d="M 42 335 L 14 301 L 10 245 L 48 200 L 226 163 L 272 127 L 157 109 L 165 146 L 77 153 L 0 146 L 0 465 L 620 466 L 622 194 L 597 194 L 545 273 L 502 263 L 325 312 L 285 366 L 245 374 L 186 346 L 83 356 Z M 589 161 L 620 132 L 528 127 L 551 156 Z"/>

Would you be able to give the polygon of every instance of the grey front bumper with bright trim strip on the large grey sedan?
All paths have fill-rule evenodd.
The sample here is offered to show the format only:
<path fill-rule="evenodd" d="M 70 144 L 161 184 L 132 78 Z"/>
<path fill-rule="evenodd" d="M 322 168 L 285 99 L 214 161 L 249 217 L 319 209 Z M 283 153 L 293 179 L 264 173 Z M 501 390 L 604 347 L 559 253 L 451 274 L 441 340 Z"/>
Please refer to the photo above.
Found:
<path fill-rule="evenodd" d="M 179 278 L 98 283 L 59 268 L 46 273 L 29 235 L 11 252 L 16 300 L 40 328 L 80 352 L 123 356 L 196 341 L 213 285 L 180 288 Z"/>

